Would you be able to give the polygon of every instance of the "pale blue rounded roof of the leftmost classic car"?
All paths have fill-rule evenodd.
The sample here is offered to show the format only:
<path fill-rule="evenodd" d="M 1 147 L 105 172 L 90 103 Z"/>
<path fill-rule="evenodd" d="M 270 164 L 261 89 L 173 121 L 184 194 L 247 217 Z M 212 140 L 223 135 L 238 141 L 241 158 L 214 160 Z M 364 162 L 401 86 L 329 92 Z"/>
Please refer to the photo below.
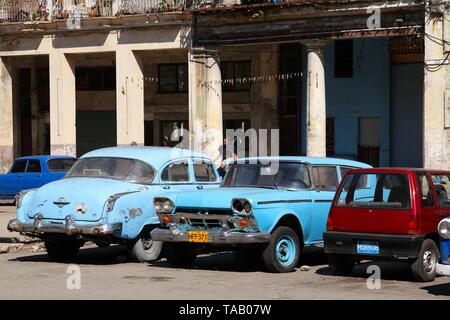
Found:
<path fill-rule="evenodd" d="M 161 168 L 162 165 L 164 165 L 165 163 L 167 163 L 172 159 L 179 159 L 179 158 L 209 159 L 208 156 L 189 149 L 180 149 L 171 147 L 141 147 L 141 146 L 102 148 L 90 151 L 84 154 L 81 158 L 93 158 L 93 157 L 138 159 L 152 165 L 156 169 Z"/>

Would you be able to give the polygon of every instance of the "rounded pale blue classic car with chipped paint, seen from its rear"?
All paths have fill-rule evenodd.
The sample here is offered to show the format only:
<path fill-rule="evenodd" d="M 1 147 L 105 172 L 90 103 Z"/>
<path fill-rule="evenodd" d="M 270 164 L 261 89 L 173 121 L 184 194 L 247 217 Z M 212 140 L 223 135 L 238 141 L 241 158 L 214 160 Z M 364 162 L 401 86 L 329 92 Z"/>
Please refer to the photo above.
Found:
<path fill-rule="evenodd" d="M 20 193 L 10 231 L 40 237 L 55 259 L 74 257 L 85 241 L 126 245 L 132 258 L 155 260 L 162 243 L 152 199 L 163 190 L 218 187 L 213 162 L 176 148 L 116 147 L 89 152 L 64 179 Z"/>

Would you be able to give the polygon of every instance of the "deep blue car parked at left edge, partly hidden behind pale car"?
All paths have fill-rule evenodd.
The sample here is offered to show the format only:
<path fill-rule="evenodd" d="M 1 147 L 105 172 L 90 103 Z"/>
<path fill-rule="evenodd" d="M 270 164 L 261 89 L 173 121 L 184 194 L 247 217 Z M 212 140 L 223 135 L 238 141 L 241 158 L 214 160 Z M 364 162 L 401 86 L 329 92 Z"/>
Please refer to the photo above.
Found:
<path fill-rule="evenodd" d="M 14 200 L 22 190 L 39 188 L 61 179 L 76 160 L 65 156 L 17 158 L 8 173 L 0 174 L 0 200 Z"/>

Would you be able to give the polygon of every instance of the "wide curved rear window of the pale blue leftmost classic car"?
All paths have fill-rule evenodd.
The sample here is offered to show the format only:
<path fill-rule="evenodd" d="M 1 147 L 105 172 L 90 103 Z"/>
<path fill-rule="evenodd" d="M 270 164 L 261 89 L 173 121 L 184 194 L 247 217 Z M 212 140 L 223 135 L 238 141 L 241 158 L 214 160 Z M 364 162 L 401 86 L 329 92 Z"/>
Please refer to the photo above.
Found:
<path fill-rule="evenodd" d="M 140 160 L 93 157 L 78 160 L 67 172 L 66 178 L 69 177 L 109 178 L 150 184 L 155 170 Z"/>

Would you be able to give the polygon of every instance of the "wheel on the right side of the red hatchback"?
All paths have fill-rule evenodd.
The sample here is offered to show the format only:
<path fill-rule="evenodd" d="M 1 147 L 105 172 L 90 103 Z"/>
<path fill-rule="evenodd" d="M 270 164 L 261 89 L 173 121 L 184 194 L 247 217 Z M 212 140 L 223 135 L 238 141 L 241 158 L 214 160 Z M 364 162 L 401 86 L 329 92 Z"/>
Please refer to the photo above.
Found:
<path fill-rule="evenodd" d="M 431 239 L 425 239 L 419 257 L 411 263 L 414 279 L 420 282 L 433 281 L 436 277 L 436 264 L 439 262 L 439 249 Z"/>

